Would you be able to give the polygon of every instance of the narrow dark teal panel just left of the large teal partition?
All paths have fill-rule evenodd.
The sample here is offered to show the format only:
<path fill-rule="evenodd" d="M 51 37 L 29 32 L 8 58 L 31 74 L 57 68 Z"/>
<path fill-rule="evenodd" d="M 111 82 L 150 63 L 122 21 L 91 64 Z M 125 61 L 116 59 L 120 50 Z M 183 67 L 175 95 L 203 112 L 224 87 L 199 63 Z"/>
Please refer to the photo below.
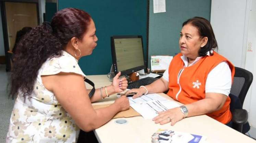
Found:
<path fill-rule="evenodd" d="M 57 3 L 46 2 L 45 3 L 45 21 L 51 22 L 51 18 L 57 12 Z"/>

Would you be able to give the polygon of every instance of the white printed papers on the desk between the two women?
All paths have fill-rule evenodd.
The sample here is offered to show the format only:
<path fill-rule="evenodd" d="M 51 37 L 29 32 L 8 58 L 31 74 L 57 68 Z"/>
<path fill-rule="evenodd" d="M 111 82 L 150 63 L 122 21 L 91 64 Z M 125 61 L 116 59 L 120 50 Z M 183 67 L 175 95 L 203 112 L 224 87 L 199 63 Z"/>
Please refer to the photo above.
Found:
<path fill-rule="evenodd" d="M 170 101 L 159 94 L 147 94 L 133 99 L 128 97 L 130 106 L 136 110 L 145 119 L 152 119 L 158 115 L 158 112 L 167 111 L 179 107 L 175 101 Z"/>

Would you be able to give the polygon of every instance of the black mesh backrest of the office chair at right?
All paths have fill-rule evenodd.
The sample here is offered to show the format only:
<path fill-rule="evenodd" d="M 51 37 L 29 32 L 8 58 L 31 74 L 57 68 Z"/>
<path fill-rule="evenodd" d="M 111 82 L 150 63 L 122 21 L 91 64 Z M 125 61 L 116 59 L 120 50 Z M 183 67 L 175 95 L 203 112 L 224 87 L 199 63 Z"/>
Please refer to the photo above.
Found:
<path fill-rule="evenodd" d="M 253 74 L 246 69 L 235 67 L 234 81 L 230 93 L 240 99 L 243 107 L 245 96 L 253 82 Z"/>

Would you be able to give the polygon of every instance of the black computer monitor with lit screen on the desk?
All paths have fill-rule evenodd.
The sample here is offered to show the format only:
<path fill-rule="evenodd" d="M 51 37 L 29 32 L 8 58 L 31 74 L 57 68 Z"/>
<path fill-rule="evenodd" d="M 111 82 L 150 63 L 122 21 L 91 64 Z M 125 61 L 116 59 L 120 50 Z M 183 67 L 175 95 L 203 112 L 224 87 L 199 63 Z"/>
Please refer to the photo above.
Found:
<path fill-rule="evenodd" d="M 129 75 L 145 69 L 142 36 L 112 36 L 111 53 L 115 75 Z"/>

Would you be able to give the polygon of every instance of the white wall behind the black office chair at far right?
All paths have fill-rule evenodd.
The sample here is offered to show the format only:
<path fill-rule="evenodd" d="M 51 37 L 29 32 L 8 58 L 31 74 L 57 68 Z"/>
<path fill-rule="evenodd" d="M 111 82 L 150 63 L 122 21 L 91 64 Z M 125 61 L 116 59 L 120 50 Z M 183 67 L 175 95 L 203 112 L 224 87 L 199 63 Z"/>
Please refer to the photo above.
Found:
<path fill-rule="evenodd" d="M 212 0 L 211 25 L 219 53 L 255 76 L 243 108 L 256 128 L 256 0 Z"/>

